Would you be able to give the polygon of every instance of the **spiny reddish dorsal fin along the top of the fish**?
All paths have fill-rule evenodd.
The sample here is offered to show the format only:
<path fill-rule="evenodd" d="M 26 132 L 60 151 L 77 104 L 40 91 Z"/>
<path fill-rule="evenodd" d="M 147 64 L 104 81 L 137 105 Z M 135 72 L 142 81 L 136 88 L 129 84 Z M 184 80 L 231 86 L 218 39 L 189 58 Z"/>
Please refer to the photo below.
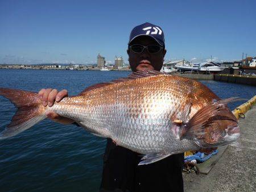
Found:
<path fill-rule="evenodd" d="M 144 69 L 141 72 L 133 72 L 128 77 L 118 78 L 117 80 L 113 80 L 110 82 L 102 82 L 100 84 L 89 86 L 85 90 L 83 90 L 79 95 L 84 95 L 88 91 L 102 88 L 111 84 L 116 84 L 118 82 L 131 81 L 131 80 L 136 80 L 138 78 L 152 77 L 152 76 L 159 76 L 159 75 L 169 75 L 169 74 L 164 72 L 158 72 L 156 70 Z"/>

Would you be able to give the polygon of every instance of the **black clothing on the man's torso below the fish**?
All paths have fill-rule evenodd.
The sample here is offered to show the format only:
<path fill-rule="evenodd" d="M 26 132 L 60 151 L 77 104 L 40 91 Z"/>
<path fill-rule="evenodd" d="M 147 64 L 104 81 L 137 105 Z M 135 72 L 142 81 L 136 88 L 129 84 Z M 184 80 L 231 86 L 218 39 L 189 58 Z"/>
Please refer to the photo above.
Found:
<path fill-rule="evenodd" d="M 108 139 L 100 191 L 183 191 L 184 153 L 138 166 L 141 158 Z"/>

